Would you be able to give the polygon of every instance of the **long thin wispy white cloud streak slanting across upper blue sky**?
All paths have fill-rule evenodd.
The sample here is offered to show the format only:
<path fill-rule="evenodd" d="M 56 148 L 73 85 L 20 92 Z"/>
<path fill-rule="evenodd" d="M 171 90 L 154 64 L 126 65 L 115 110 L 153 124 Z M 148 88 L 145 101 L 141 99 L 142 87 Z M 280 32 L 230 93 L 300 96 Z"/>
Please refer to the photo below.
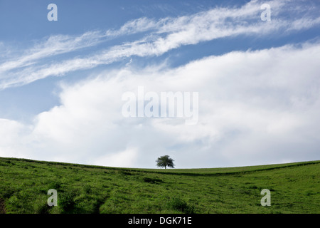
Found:
<path fill-rule="evenodd" d="M 64 76 L 73 71 L 95 68 L 132 56 L 161 56 L 181 46 L 194 45 L 228 36 L 266 36 L 292 32 L 320 24 L 319 16 L 285 18 L 290 1 L 270 1 L 272 21 L 260 20 L 260 1 L 250 1 L 240 8 L 215 8 L 198 14 L 176 18 L 141 18 L 127 22 L 118 30 L 89 31 L 80 36 L 50 36 L 33 48 L 22 51 L 22 56 L 4 60 L 0 64 L 0 88 L 22 86 L 48 76 Z M 297 10 L 297 9 L 296 9 Z M 304 14 L 306 7 L 304 7 Z M 72 53 L 118 36 L 142 33 L 135 41 L 103 47 L 93 53 L 61 56 L 59 61 L 50 57 Z M 82 56 L 81 56 L 82 54 Z M 46 63 L 43 63 L 46 58 Z"/>

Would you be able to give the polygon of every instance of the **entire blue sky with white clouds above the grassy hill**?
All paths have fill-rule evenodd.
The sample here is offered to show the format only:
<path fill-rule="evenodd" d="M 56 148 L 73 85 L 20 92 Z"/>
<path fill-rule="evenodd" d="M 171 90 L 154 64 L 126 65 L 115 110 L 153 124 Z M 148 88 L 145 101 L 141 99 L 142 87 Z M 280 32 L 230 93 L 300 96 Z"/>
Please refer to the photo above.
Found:
<path fill-rule="evenodd" d="M 319 160 L 319 11 L 306 0 L 0 0 L 0 157 L 139 168 L 162 155 L 176 168 Z M 176 110 L 193 95 L 196 122 L 185 109 L 124 115 L 126 102 L 164 108 L 161 93 L 183 96 Z"/>

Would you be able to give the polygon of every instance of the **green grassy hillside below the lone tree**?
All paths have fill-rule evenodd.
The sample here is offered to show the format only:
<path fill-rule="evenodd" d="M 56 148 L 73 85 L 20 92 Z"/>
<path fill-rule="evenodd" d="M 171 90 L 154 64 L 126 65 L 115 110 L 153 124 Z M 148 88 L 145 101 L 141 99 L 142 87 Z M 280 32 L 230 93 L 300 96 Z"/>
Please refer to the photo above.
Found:
<path fill-rule="evenodd" d="M 57 207 L 47 204 L 49 189 Z M 270 207 L 260 204 L 262 189 Z M 1 212 L 320 213 L 320 161 L 157 170 L 0 157 Z"/>

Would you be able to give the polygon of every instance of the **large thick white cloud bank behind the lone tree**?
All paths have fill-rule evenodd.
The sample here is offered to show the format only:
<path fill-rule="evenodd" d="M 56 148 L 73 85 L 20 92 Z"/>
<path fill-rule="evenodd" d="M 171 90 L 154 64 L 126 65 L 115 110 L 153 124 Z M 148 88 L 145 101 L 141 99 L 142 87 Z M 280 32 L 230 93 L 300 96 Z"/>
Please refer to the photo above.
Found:
<path fill-rule="evenodd" d="M 178 68 L 130 64 L 62 84 L 60 105 L 31 125 L 1 120 L 0 155 L 155 167 L 258 165 L 319 159 L 320 44 L 209 56 Z M 230 67 L 232 66 L 232 67 Z M 122 94 L 199 93 L 199 119 L 124 118 Z"/>

